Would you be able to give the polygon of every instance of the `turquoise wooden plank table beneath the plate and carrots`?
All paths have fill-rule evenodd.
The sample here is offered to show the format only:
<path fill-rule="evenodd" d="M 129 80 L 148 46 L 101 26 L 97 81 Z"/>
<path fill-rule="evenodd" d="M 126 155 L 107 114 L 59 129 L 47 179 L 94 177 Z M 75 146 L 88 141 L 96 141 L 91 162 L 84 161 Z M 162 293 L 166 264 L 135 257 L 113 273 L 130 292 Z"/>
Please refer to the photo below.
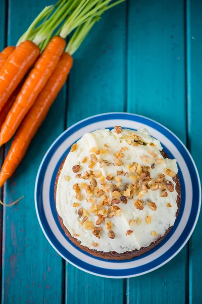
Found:
<path fill-rule="evenodd" d="M 15 44 L 51 0 L 0 1 L 0 47 Z M 132 279 L 105 279 L 65 262 L 45 239 L 34 207 L 42 157 L 67 127 L 97 113 L 128 111 L 154 119 L 188 147 L 202 174 L 202 2 L 128 0 L 107 12 L 74 56 L 67 85 L 2 190 L 2 302 L 201 303 L 199 217 L 182 251 Z M 4 159 L 9 144 L 2 149 Z"/>

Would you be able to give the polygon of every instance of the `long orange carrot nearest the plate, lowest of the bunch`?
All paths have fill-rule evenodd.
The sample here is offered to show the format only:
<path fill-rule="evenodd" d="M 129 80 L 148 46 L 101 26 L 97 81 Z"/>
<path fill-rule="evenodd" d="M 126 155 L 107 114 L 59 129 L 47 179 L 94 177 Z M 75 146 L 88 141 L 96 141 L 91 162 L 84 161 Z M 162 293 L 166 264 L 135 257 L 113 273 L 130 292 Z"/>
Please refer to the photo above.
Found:
<path fill-rule="evenodd" d="M 28 111 L 14 137 L 0 172 L 0 187 L 2 187 L 5 181 L 13 175 L 23 159 L 32 138 L 36 134 L 38 128 L 45 119 L 49 108 L 66 82 L 72 64 L 72 56 L 64 52 L 57 67 L 46 82 L 41 93 L 38 95 L 34 105 Z"/>

